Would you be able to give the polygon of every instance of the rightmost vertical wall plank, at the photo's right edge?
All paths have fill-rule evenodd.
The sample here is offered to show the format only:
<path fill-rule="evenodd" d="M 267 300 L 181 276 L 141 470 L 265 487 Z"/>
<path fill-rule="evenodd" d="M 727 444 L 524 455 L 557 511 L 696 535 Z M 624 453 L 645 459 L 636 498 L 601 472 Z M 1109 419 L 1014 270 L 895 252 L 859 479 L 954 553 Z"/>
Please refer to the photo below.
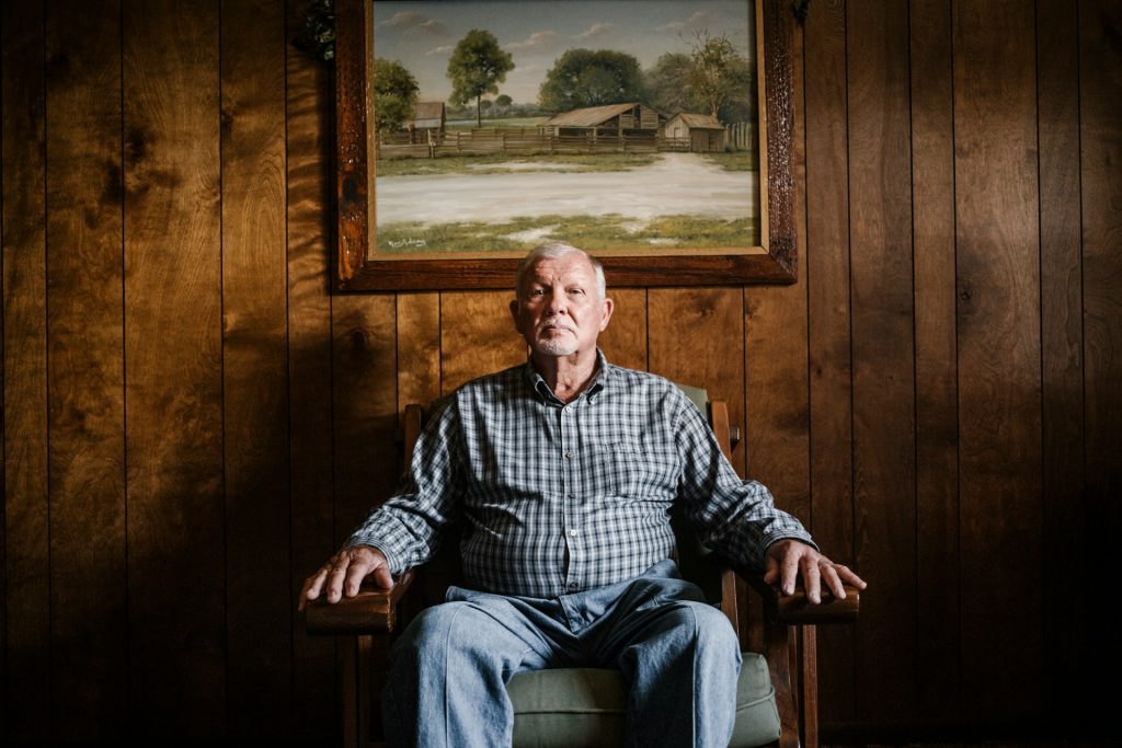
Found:
<path fill-rule="evenodd" d="M 1086 520 L 1084 589 L 1114 584 L 1114 544 L 1122 530 L 1119 433 L 1122 433 L 1122 7 L 1111 0 L 1079 3 L 1079 136 L 1082 145 L 1083 343 L 1085 357 Z M 1064 527 L 1064 530 L 1068 528 Z M 1093 594 L 1093 593 L 1092 593 Z M 1089 604 L 1089 603 L 1088 603 Z M 1095 673 L 1122 665 L 1122 645 L 1101 622 L 1091 629 Z M 1115 709 L 1110 690 L 1087 708 L 1104 723 Z"/>

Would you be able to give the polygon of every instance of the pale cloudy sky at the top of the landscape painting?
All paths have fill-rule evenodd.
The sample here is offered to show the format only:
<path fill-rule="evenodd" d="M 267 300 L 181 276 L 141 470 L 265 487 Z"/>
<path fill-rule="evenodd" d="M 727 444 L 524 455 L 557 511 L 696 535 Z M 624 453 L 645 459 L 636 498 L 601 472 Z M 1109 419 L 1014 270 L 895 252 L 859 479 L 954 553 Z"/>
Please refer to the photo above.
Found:
<path fill-rule="evenodd" d="M 643 70 L 666 52 L 688 53 L 698 31 L 726 35 L 751 56 L 749 0 L 375 0 L 374 48 L 413 73 L 422 101 L 447 101 L 456 44 L 473 28 L 514 57 L 499 93 L 537 101 L 537 89 L 567 49 L 615 49 Z"/>

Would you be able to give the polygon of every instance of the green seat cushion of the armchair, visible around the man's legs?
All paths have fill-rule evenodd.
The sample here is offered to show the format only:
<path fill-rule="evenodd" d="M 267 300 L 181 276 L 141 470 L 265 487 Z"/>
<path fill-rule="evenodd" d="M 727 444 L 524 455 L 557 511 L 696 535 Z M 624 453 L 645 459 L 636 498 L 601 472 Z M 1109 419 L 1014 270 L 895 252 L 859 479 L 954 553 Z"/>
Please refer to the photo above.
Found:
<path fill-rule="evenodd" d="M 514 704 L 514 746 L 620 746 L 627 687 L 618 671 L 545 669 L 519 673 L 506 686 Z M 736 689 L 736 727 L 729 746 L 779 739 L 779 711 L 767 663 L 745 653 Z"/>

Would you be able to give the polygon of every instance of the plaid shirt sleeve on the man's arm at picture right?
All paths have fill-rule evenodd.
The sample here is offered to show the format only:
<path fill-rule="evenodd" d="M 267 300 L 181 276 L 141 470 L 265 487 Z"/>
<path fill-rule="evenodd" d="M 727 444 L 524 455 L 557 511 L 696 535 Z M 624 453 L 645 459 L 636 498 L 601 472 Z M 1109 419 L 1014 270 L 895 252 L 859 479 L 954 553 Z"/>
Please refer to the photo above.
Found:
<path fill-rule="evenodd" d="M 674 413 L 682 460 L 679 496 L 701 542 L 758 571 L 765 566 L 764 552 L 776 541 L 793 538 L 817 550 L 802 523 L 775 507 L 766 487 L 736 474 L 705 417 L 684 397 L 681 400 Z"/>

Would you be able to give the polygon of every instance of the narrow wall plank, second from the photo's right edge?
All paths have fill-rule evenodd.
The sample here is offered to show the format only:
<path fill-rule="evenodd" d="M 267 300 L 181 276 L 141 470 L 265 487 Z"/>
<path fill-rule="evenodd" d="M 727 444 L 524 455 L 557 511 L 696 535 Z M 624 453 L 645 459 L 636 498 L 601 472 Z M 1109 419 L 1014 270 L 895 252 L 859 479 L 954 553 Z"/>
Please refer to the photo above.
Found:
<path fill-rule="evenodd" d="M 1045 640 L 1050 683 L 1079 681 L 1095 659 L 1087 632 L 1091 599 L 1070 599 L 1086 570 L 1084 493 L 1083 278 L 1079 221 L 1078 12 L 1069 2 L 1037 2 L 1037 101 L 1040 142 L 1040 355 L 1043 428 Z M 1070 604 L 1060 607 L 1059 600 Z M 1054 694 L 1065 712 L 1093 722 L 1086 694 Z M 1076 719 L 1079 719 L 1078 717 Z M 1080 720 L 1080 721 L 1083 721 Z"/>

